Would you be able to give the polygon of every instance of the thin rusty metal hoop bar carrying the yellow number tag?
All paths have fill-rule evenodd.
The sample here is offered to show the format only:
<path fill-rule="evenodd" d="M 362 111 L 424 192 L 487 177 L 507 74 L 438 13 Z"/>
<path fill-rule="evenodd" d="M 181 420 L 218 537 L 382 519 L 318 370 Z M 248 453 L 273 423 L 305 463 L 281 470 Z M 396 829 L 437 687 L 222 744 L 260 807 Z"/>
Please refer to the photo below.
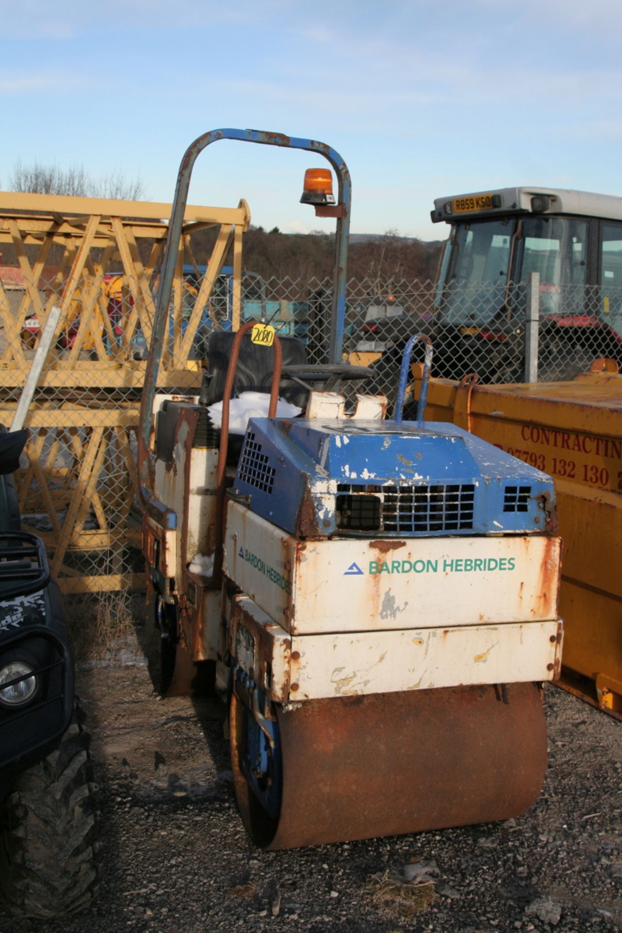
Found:
<path fill-rule="evenodd" d="M 223 411 L 220 421 L 220 446 L 218 448 L 218 473 L 216 479 L 216 508 L 214 522 L 214 584 L 219 586 L 222 582 L 223 567 L 223 535 L 225 520 L 225 493 L 227 491 L 227 452 L 228 452 L 228 419 L 229 407 L 231 402 L 231 392 L 235 381 L 235 373 L 238 368 L 238 357 L 240 355 L 240 344 L 244 334 L 255 327 L 256 321 L 248 321 L 238 330 L 231 344 L 231 355 L 229 356 L 227 378 L 223 389 Z M 274 370 L 272 372 L 272 384 L 270 386 L 270 407 L 268 417 L 274 418 L 276 407 L 279 401 L 279 385 L 281 383 L 281 369 L 283 366 L 283 350 L 281 341 L 274 335 Z"/>

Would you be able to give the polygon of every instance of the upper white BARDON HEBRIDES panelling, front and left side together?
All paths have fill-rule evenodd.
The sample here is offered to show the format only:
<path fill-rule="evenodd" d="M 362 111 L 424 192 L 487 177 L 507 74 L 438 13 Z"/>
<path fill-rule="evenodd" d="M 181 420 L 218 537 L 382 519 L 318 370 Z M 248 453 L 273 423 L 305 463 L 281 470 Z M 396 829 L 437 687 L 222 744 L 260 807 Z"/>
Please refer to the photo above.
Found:
<path fill-rule="evenodd" d="M 225 569 L 292 634 L 557 618 L 560 539 L 297 541 L 229 503 Z"/>

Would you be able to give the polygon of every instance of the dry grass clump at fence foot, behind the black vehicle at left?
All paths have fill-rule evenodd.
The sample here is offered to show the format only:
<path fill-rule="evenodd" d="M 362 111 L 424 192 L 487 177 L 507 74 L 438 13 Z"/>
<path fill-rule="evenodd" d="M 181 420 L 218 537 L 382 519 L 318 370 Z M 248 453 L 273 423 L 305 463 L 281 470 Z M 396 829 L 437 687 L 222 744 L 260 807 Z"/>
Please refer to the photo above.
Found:
<path fill-rule="evenodd" d="M 131 591 L 66 596 L 65 622 L 77 663 L 114 655 L 119 644 L 133 646 L 136 626 Z"/>

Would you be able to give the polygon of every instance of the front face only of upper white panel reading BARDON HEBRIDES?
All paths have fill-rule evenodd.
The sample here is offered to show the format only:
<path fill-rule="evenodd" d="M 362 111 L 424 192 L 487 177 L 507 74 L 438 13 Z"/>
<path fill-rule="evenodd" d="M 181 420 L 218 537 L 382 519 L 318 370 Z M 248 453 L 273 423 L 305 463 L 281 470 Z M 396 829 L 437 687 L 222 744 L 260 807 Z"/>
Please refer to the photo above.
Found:
<path fill-rule="evenodd" d="M 310 541 L 294 564 L 292 632 L 557 618 L 560 539 Z"/>

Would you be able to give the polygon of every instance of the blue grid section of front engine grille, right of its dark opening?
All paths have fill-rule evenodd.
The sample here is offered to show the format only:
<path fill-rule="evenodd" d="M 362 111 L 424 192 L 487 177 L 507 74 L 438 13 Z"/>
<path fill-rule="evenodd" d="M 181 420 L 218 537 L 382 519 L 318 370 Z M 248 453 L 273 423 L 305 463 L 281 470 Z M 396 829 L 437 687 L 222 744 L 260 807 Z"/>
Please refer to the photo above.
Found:
<path fill-rule="evenodd" d="M 385 531 L 468 531 L 473 527 L 475 486 L 384 486 Z"/>

